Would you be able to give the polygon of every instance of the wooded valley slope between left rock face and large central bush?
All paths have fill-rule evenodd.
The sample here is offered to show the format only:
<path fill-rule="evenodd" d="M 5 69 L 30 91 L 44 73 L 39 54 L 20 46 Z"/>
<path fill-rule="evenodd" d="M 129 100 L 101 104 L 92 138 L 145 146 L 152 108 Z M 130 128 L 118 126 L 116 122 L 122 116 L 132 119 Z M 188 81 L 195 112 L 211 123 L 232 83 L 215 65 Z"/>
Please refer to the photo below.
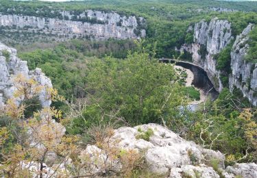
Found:
<path fill-rule="evenodd" d="M 25 48 L 25 47 L 23 47 Z M 128 50 L 133 50 L 134 43 L 131 40 L 106 40 L 104 42 L 90 42 L 72 40 L 64 42 L 53 49 L 37 49 L 32 52 L 20 53 L 19 57 L 27 60 L 30 70 L 42 68 L 42 71 L 50 77 L 54 88 L 66 99 L 83 98 L 86 96 L 87 63 L 95 56 L 101 58 L 104 55 L 113 55 L 117 58 L 125 58 Z M 27 47 L 26 47 L 27 49 Z"/>

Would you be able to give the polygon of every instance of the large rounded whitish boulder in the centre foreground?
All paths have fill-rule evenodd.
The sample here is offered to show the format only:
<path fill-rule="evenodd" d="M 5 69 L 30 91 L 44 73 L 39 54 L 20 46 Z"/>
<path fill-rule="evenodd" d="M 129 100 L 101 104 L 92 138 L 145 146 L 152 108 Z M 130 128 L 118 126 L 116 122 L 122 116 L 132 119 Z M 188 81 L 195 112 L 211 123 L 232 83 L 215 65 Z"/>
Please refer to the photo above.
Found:
<path fill-rule="evenodd" d="M 154 131 L 149 141 L 137 139 L 136 136 L 148 129 Z M 220 160 L 221 168 L 225 157 L 219 151 L 204 149 L 194 142 L 180 138 L 169 129 L 156 124 L 138 127 L 121 127 L 114 131 L 112 140 L 119 140 L 122 149 L 136 149 L 145 153 L 145 160 L 152 173 L 169 174 L 171 168 L 188 164 L 200 164 L 208 158 Z"/>

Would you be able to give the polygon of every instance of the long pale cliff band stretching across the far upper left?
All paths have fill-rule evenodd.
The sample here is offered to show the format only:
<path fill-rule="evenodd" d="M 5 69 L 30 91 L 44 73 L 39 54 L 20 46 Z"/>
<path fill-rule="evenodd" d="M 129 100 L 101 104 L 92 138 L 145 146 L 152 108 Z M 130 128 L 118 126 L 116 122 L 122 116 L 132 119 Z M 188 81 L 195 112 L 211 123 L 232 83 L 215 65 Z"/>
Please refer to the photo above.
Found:
<path fill-rule="evenodd" d="M 143 18 L 121 16 L 115 12 L 86 10 L 81 14 L 59 12 L 59 18 L 1 14 L 0 26 L 11 28 L 9 31 L 30 34 L 45 34 L 56 37 L 55 40 L 70 38 L 140 38 L 145 37 Z M 21 35 L 22 36 L 22 35 Z"/>

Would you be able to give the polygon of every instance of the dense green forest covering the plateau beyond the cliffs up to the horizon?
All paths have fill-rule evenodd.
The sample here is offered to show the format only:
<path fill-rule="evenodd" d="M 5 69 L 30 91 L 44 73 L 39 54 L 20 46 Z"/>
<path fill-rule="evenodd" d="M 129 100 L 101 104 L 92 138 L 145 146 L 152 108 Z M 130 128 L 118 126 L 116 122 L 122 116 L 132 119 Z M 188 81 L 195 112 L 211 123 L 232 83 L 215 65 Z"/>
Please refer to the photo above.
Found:
<path fill-rule="evenodd" d="M 239 12 L 215 12 L 209 8 L 228 8 Z M 69 10 L 79 14 L 83 10 L 114 11 L 124 15 L 142 16 L 146 19 L 147 44 L 157 42 L 157 57 L 171 58 L 179 55 L 175 47 L 193 40 L 186 30 L 189 25 L 213 17 L 232 23 L 233 35 L 240 34 L 248 23 L 256 23 L 256 3 L 231 1 L 79 1 L 65 3 L 50 2 L 0 2 L 3 14 L 23 14 L 62 18 L 60 11 Z"/>

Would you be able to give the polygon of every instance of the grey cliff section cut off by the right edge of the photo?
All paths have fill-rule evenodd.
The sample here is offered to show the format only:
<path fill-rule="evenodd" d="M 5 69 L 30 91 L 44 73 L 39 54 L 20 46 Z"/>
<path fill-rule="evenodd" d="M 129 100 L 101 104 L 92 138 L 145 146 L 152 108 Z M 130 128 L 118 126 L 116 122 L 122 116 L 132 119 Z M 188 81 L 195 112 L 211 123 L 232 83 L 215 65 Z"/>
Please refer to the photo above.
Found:
<path fill-rule="evenodd" d="M 249 49 L 248 34 L 253 27 L 253 24 L 249 24 L 242 34 L 236 36 L 231 51 L 230 90 L 232 91 L 234 87 L 240 89 L 244 97 L 247 97 L 252 104 L 257 105 L 257 66 L 245 60 Z"/>

